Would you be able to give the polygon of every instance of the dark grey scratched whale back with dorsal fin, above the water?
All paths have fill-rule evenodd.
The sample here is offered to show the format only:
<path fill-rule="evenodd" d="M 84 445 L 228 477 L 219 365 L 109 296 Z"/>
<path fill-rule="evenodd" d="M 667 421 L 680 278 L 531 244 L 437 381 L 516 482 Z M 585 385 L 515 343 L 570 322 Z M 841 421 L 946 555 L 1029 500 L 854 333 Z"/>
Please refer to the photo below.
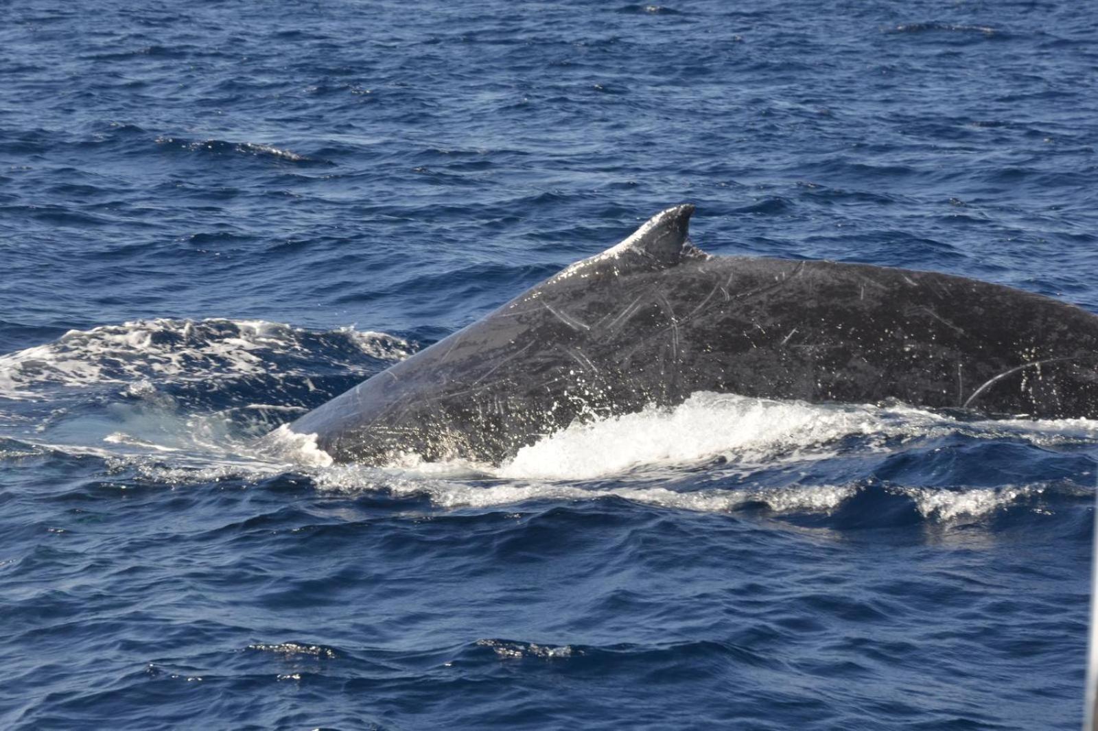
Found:
<path fill-rule="evenodd" d="M 705 254 L 668 209 L 290 425 L 336 461 L 500 463 L 712 391 L 1098 417 L 1098 316 L 961 277 Z"/>

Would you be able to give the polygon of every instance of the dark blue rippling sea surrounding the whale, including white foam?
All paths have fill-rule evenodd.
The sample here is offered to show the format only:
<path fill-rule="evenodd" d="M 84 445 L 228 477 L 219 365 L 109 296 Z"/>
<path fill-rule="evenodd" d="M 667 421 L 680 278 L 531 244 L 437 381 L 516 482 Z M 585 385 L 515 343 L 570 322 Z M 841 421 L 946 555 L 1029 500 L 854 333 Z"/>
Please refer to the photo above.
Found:
<path fill-rule="evenodd" d="M 1098 423 L 251 439 L 656 211 L 1098 312 L 1068 2 L 0 2 L 0 726 L 1072 729 Z"/>

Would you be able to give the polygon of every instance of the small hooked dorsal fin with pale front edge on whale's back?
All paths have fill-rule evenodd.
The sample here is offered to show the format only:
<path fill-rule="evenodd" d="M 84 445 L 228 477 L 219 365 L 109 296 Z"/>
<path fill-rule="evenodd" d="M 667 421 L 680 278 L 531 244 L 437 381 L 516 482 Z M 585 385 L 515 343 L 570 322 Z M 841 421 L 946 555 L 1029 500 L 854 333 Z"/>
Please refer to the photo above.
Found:
<path fill-rule="evenodd" d="M 592 274 L 603 269 L 614 274 L 666 269 L 686 259 L 707 258 L 709 255 L 690 243 L 690 217 L 693 213 L 693 203 L 660 211 L 620 244 L 576 261 L 550 281 L 559 281 L 573 274 Z"/>

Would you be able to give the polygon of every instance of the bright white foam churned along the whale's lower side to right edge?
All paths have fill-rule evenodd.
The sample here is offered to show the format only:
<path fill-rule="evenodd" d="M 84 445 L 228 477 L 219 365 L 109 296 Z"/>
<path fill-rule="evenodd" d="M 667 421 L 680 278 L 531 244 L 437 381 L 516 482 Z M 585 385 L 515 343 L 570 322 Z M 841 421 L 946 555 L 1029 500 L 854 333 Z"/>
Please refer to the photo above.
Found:
<path fill-rule="evenodd" d="M 794 483 L 698 490 L 698 481 L 691 480 L 695 488 L 681 491 L 653 483 L 668 477 L 679 482 L 686 474 L 684 468 L 693 472 L 717 457 L 730 464 L 715 474 L 728 476 L 731 469 L 746 473 L 827 459 L 841 451 L 839 442 L 848 438 L 858 440 L 854 449 L 864 456 L 957 432 L 976 438 L 1018 436 L 1035 442 L 1093 441 L 1098 438 L 1098 423 L 960 421 L 906 406 L 814 405 L 703 392 L 674 408 L 649 407 L 637 414 L 575 424 L 524 448 L 498 468 L 460 461 L 423 462 L 411 454 L 386 468 L 343 464 L 312 474 L 321 490 L 426 495 L 444 508 L 618 497 L 705 513 L 727 513 L 758 503 L 778 514 L 830 514 L 863 487 Z M 606 486 L 606 479 L 613 484 Z M 1044 487 L 895 490 L 915 501 L 923 517 L 951 522 L 990 515 Z"/>

